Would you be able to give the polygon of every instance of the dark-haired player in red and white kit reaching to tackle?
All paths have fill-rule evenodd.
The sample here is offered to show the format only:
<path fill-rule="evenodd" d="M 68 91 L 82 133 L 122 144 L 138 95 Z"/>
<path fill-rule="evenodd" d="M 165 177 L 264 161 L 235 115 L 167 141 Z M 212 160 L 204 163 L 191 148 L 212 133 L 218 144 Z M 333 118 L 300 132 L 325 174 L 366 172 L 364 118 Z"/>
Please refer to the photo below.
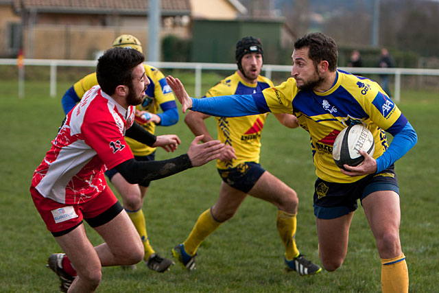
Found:
<path fill-rule="evenodd" d="M 171 151 L 180 143 L 174 134 L 156 137 L 134 121 L 135 106 L 143 101 L 150 84 L 144 60 L 139 51 L 119 47 L 99 58 L 99 86 L 87 91 L 67 114 L 32 177 L 35 207 L 65 253 L 55 253 L 47 261 L 64 292 L 94 292 L 102 279 L 102 266 L 132 265 L 145 255 L 139 233 L 106 183 L 106 167 L 114 167 L 135 184 L 203 165 L 217 159 L 224 148 L 219 141 L 199 144 L 202 137 L 196 137 L 187 154 L 174 159 L 134 159 L 125 135 Z M 104 243 L 93 247 L 83 220 Z"/>

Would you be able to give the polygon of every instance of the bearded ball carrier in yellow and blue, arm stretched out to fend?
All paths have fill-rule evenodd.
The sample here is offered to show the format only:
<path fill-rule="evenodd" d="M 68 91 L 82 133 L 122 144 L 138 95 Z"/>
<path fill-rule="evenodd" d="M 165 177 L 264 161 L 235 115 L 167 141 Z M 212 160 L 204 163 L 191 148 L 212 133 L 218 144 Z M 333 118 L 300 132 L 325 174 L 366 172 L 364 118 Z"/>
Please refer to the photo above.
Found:
<path fill-rule="evenodd" d="M 183 113 L 190 108 L 219 117 L 293 113 L 309 132 L 318 176 L 314 215 L 319 253 L 326 270 L 337 270 L 346 257 L 349 227 L 361 204 L 381 257 L 383 292 L 408 292 L 409 276 L 401 250 L 399 186 L 394 163 L 416 143 L 417 135 L 401 110 L 379 84 L 337 70 L 337 45 L 329 36 L 312 33 L 294 43 L 292 77 L 252 95 L 191 99 L 180 80 L 169 76 Z M 375 152 L 360 151 L 364 162 L 348 171 L 335 165 L 335 137 L 352 123 L 363 124 L 375 139 Z M 393 135 L 388 145 L 386 132 Z"/>

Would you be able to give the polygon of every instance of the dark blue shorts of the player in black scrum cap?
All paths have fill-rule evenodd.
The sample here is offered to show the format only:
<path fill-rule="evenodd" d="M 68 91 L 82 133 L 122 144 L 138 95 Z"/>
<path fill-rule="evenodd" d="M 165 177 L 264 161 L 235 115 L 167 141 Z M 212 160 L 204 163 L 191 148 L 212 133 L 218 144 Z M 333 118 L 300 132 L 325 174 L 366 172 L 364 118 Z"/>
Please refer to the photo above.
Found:
<path fill-rule="evenodd" d="M 218 169 L 222 180 L 233 188 L 246 194 L 257 183 L 265 169 L 258 163 L 246 162 L 230 169 Z"/>

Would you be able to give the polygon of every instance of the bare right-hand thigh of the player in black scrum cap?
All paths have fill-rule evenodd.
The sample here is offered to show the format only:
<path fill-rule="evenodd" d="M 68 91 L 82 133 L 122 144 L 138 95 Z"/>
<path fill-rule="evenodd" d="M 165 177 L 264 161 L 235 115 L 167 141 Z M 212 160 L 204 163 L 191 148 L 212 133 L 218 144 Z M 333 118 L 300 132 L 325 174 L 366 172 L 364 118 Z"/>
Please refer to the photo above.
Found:
<path fill-rule="evenodd" d="M 276 207 L 283 210 L 286 207 L 297 207 L 298 204 L 296 191 L 268 171 L 265 171 L 257 180 L 249 194 L 255 198 L 272 202 Z"/>

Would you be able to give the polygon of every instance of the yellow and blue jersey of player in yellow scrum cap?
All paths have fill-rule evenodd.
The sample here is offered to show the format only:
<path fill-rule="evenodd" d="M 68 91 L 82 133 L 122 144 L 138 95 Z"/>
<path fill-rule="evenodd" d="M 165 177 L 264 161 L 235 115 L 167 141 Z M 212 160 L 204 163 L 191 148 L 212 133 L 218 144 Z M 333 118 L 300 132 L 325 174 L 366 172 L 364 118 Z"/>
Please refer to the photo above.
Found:
<path fill-rule="evenodd" d="M 169 126 L 176 124 L 178 121 L 178 110 L 175 102 L 174 93 L 167 84 L 165 76 L 161 71 L 150 65 L 145 65 L 145 75 L 150 79 L 150 85 L 145 91 L 146 96 L 142 104 L 137 106 L 137 110 L 147 110 L 149 113 L 158 114 L 158 108 L 163 110 L 162 114 L 158 114 L 162 122 L 160 125 Z M 82 95 L 93 86 L 97 85 L 96 73 L 86 75 L 80 81 L 73 84 L 71 89 L 62 97 L 62 106 L 67 114 L 75 106 L 76 102 L 82 98 Z M 148 132 L 154 134 L 156 124 L 154 122 L 144 123 L 143 120 L 136 117 L 138 124 L 141 124 Z M 152 154 L 155 148 L 139 143 L 134 139 L 126 137 L 126 141 L 132 150 L 134 156 L 147 156 Z"/>

